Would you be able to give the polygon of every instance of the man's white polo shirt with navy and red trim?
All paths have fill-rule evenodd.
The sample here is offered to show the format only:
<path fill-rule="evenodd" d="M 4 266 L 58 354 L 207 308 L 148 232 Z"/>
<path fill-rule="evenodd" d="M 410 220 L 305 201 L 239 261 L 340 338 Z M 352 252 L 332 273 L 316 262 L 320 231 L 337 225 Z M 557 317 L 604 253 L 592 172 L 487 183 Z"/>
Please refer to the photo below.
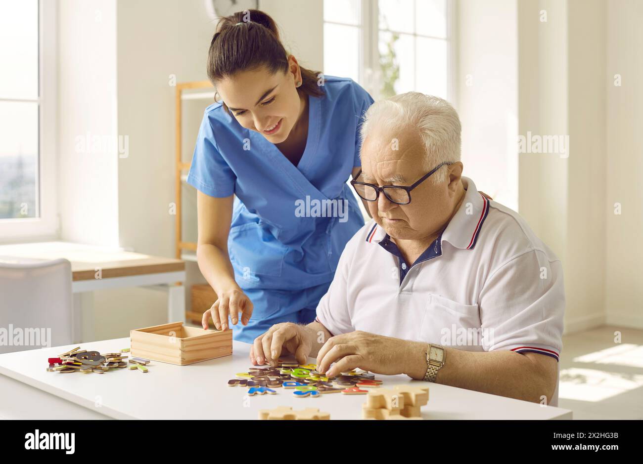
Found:
<path fill-rule="evenodd" d="M 556 358 L 565 292 L 561 262 L 515 211 L 487 200 L 467 177 L 464 201 L 442 235 L 405 263 L 371 220 L 346 245 L 317 320 L 469 351 Z"/>

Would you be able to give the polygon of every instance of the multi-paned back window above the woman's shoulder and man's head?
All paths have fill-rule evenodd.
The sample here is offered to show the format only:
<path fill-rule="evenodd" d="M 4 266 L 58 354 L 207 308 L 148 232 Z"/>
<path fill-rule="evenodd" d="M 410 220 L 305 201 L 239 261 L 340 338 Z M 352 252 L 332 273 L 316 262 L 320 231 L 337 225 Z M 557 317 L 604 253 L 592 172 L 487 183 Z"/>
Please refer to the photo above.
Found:
<path fill-rule="evenodd" d="M 450 0 L 324 0 L 324 72 L 386 98 L 418 91 L 453 102 Z"/>

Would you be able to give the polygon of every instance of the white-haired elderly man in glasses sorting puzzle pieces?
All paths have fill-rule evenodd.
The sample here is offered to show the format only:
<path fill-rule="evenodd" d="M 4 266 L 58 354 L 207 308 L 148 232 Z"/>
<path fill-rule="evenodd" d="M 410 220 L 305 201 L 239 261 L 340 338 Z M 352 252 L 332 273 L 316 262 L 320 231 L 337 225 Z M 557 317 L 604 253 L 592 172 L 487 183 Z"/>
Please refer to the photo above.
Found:
<path fill-rule="evenodd" d="M 406 93 L 374 103 L 352 181 L 373 220 L 346 245 L 309 325 L 255 339 L 254 364 L 293 353 L 318 371 L 404 373 L 556 404 L 561 263 L 525 221 L 462 177 L 449 103 Z"/>

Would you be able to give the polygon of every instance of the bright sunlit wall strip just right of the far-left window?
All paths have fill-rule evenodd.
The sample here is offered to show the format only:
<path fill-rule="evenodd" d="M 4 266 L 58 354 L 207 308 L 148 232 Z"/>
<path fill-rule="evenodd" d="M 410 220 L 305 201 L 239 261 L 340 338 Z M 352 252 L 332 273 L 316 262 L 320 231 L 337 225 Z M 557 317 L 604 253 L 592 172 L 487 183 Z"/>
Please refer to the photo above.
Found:
<path fill-rule="evenodd" d="M 118 154 L 102 143 L 117 134 L 116 2 L 65 0 L 58 6 L 60 235 L 117 246 Z M 87 134 L 91 143 L 82 147 Z"/>

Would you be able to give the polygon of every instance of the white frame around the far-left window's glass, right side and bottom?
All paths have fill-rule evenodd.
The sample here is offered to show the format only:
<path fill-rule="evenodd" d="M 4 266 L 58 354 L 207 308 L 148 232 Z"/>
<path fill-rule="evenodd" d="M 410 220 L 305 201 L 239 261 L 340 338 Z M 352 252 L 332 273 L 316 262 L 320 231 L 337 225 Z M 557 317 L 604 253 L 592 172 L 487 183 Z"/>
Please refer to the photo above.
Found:
<path fill-rule="evenodd" d="M 0 219 L 0 242 L 57 240 L 57 6 L 38 1 L 38 217 Z M 46 38 L 46 39 L 45 39 Z"/>

